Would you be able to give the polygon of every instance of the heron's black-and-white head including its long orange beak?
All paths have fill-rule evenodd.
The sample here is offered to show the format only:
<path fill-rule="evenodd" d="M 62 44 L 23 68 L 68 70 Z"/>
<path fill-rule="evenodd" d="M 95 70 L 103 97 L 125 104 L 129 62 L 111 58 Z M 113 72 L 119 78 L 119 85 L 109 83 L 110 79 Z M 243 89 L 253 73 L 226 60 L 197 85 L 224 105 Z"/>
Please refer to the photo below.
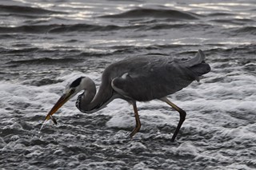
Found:
<path fill-rule="evenodd" d="M 49 120 L 51 118 L 51 115 L 56 113 L 58 109 L 61 108 L 62 105 L 66 103 L 66 101 L 69 101 L 70 98 L 74 97 L 82 89 L 85 89 L 85 86 L 86 86 L 86 77 L 79 77 L 76 80 L 68 83 L 66 85 L 66 88 L 64 89 L 62 97 L 58 99 L 54 107 L 50 109 L 50 112 L 47 114 L 46 120 Z"/>

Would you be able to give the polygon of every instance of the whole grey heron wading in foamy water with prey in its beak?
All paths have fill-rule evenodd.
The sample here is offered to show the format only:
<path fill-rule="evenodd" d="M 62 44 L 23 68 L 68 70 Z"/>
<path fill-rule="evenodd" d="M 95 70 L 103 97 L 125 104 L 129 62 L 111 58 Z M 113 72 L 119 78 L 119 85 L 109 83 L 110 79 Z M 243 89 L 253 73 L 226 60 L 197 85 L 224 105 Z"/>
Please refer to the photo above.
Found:
<path fill-rule="evenodd" d="M 186 61 L 173 57 L 143 56 L 115 62 L 102 73 L 102 84 L 98 93 L 94 81 L 89 77 L 79 77 L 66 85 L 64 94 L 50 110 L 46 121 L 52 119 L 56 124 L 52 115 L 66 101 L 83 90 L 76 101 L 76 106 L 82 113 L 97 112 L 116 98 L 133 105 L 136 126 L 130 133 L 132 138 L 141 128 L 136 101 L 158 99 L 166 102 L 179 113 L 180 120 L 171 139 L 174 141 L 185 121 L 186 112 L 169 101 L 167 96 L 185 88 L 194 80 L 199 81 L 199 76 L 210 72 L 210 65 L 205 63 L 205 57 L 199 49 L 195 57 Z"/>

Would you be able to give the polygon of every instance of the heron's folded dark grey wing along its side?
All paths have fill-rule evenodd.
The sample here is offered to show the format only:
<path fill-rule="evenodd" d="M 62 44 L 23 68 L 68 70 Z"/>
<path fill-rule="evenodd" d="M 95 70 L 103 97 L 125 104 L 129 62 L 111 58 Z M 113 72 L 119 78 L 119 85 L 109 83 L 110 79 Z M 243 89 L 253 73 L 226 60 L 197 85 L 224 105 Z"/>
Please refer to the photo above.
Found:
<path fill-rule="evenodd" d="M 140 73 L 125 73 L 122 77 L 115 77 L 111 85 L 124 97 L 135 101 L 150 101 L 175 93 L 194 79 L 193 75 L 183 69 L 161 67 L 142 70 Z"/>

